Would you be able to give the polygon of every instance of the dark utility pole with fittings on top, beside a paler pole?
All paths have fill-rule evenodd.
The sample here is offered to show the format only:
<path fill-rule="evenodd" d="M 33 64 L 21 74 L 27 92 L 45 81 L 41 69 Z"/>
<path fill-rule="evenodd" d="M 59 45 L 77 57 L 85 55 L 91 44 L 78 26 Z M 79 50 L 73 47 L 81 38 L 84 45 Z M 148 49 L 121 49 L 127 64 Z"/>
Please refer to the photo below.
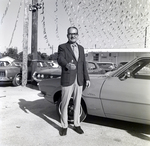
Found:
<path fill-rule="evenodd" d="M 37 40 L 38 40 L 38 9 L 41 9 L 42 5 L 38 3 L 38 0 L 32 0 L 32 5 L 29 6 L 29 10 L 32 11 L 32 35 L 31 35 L 31 54 L 32 54 L 32 71 L 31 76 L 37 68 L 35 60 L 37 60 Z"/>

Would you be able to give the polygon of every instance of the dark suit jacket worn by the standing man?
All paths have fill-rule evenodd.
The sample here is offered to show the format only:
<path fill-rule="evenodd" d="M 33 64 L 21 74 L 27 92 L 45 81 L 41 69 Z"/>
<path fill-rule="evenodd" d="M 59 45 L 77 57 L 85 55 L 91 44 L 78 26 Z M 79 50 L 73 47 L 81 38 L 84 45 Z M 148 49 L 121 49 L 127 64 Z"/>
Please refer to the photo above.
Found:
<path fill-rule="evenodd" d="M 71 49 L 70 43 L 61 44 L 58 46 L 58 64 L 62 68 L 61 72 L 61 85 L 70 86 L 74 83 L 76 75 L 77 82 L 79 86 L 83 86 L 86 80 L 89 80 L 89 75 L 86 67 L 84 48 L 78 45 L 79 49 L 79 58 L 76 60 L 76 57 Z M 68 70 L 66 65 L 72 62 L 76 65 L 75 70 Z"/>

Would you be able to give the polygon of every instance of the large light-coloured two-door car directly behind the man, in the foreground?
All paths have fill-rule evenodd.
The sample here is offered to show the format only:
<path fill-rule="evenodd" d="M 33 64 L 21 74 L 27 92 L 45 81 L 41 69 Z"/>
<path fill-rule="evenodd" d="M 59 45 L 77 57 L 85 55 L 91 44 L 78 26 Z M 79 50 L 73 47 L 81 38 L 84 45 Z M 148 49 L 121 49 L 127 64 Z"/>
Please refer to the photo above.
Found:
<path fill-rule="evenodd" d="M 150 55 L 137 57 L 112 72 L 89 76 L 91 86 L 84 89 L 81 99 L 81 121 L 89 114 L 150 125 Z M 60 111 L 60 78 L 39 82 L 39 90 Z M 73 121 L 72 109 L 71 98 L 70 122 Z"/>

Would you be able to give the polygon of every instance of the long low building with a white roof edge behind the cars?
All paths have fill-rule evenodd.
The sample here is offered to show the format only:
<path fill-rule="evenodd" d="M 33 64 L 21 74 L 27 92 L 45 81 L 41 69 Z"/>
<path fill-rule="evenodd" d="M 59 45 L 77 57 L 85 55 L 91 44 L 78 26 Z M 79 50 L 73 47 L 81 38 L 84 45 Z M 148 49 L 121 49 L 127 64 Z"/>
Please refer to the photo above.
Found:
<path fill-rule="evenodd" d="M 150 54 L 150 49 L 86 49 L 87 61 L 128 62 L 143 54 Z"/>

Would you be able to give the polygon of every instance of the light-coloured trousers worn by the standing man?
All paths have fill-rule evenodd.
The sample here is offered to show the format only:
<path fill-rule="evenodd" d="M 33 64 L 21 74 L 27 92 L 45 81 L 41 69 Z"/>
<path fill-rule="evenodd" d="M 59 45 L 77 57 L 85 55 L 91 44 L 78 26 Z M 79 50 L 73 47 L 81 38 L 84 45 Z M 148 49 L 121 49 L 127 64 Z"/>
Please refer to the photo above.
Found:
<path fill-rule="evenodd" d="M 71 86 L 62 86 L 61 96 L 61 125 L 62 128 L 68 127 L 68 104 L 73 95 L 74 102 L 74 126 L 80 126 L 80 106 L 83 86 L 79 86 L 77 83 L 77 77 L 75 82 Z"/>

